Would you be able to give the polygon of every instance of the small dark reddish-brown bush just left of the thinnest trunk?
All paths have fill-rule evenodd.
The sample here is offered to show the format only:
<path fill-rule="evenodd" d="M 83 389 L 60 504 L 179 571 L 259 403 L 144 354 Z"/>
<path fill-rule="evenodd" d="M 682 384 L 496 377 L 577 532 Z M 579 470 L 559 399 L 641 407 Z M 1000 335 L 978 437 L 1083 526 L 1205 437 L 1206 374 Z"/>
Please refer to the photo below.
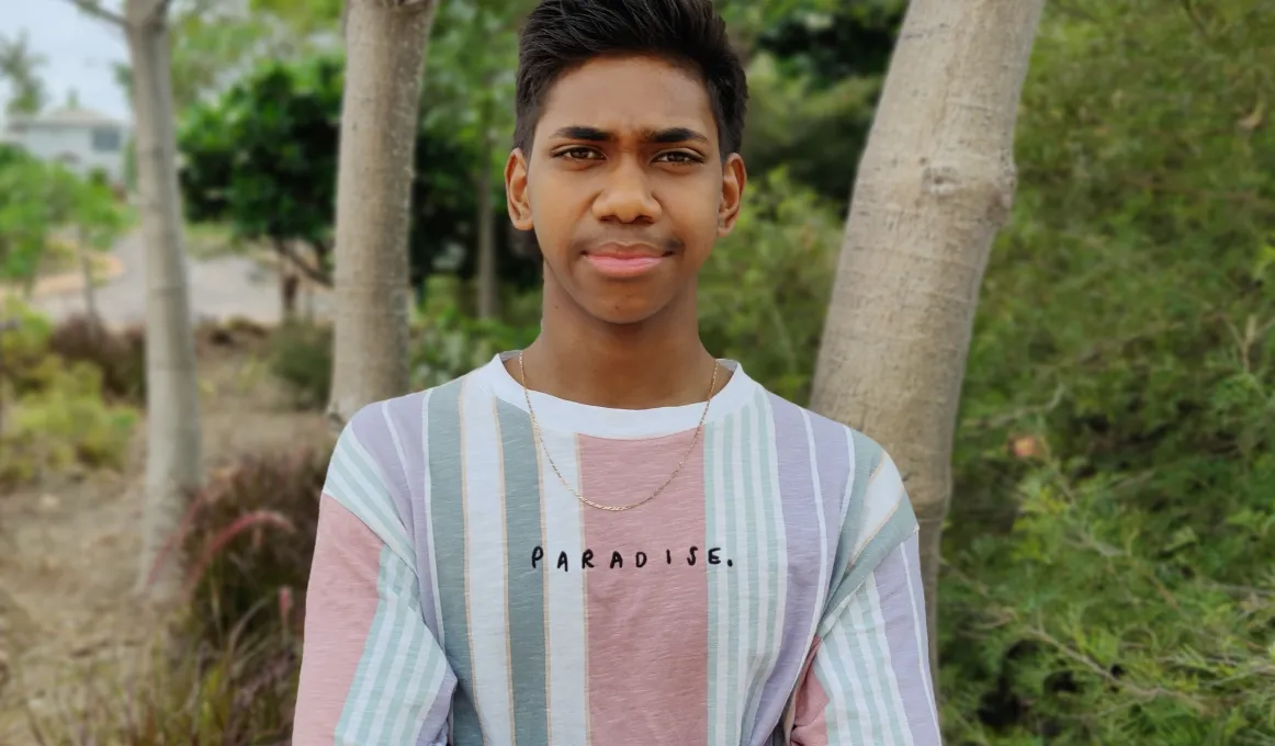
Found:
<path fill-rule="evenodd" d="M 147 335 L 142 326 L 115 333 L 88 315 L 76 315 L 59 324 L 48 338 L 48 348 L 69 362 L 88 362 L 102 371 L 106 395 L 144 402 L 147 395 Z"/>

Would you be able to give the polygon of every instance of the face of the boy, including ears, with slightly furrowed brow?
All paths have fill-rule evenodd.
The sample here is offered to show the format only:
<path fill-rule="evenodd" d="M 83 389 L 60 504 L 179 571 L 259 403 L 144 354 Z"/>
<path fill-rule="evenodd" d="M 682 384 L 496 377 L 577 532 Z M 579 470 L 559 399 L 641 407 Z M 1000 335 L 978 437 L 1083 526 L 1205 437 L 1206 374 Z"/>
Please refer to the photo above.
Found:
<path fill-rule="evenodd" d="M 592 316 L 644 321 L 691 292 L 745 185 L 723 163 L 708 91 L 654 57 L 599 57 L 564 74 L 530 154 L 505 171 L 510 217 L 536 231 L 546 284 Z M 550 289 L 550 288 L 547 288 Z"/>

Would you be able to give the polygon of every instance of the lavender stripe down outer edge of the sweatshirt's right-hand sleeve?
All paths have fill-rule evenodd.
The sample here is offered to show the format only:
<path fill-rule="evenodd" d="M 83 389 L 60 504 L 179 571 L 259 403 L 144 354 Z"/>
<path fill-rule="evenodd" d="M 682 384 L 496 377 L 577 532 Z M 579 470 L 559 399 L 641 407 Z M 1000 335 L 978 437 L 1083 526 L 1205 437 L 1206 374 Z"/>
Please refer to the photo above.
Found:
<path fill-rule="evenodd" d="M 913 560 L 912 593 L 908 592 L 909 562 L 904 562 L 905 552 Z M 899 681 L 912 740 L 917 746 L 937 746 L 940 738 L 935 724 L 935 704 L 923 672 L 923 667 L 929 666 L 929 653 L 923 649 L 926 625 L 917 618 L 917 610 L 926 608 L 918 556 L 917 534 L 913 533 L 877 565 L 875 580 L 881 597 L 885 636 L 890 645 L 890 664 Z M 922 640 L 921 647 L 917 644 L 918 639 Z"/>

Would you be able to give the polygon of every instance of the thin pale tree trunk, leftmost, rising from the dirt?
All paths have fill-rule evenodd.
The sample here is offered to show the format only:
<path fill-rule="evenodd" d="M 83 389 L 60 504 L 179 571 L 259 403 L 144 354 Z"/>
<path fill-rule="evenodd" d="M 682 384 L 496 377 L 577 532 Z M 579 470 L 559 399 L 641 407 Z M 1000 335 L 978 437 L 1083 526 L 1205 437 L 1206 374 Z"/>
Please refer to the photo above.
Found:
<path fill-rule="evenodd" d="M 159 553 L 173 537 L 186 496 L 201 483 L 203 444 L 177 196 L 167 19 L 163 14 L 147 19 L 152 5 L 129 0 L 126 11 L 147 269 L 147 500 L 139 589 L 154 569 L 152 597 L 166 598 L 177 578 L 177 552 Z M 162 560 L 158 566 L 157 560 Z"/>

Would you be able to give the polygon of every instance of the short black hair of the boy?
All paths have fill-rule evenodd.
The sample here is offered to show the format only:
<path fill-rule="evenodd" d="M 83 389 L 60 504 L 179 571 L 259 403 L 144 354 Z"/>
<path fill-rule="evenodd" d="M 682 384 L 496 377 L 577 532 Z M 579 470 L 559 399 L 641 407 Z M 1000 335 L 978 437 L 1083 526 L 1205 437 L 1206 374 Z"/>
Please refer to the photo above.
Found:
<path fill-rule="evenodd" d="M 700 73 L 722 158 L 738 153 L 748 83 L 711 0 L 541 0 L 518 48 L 514 147 L 529 153 L 553 83 L 602 56 L 653 55 Z"/>

